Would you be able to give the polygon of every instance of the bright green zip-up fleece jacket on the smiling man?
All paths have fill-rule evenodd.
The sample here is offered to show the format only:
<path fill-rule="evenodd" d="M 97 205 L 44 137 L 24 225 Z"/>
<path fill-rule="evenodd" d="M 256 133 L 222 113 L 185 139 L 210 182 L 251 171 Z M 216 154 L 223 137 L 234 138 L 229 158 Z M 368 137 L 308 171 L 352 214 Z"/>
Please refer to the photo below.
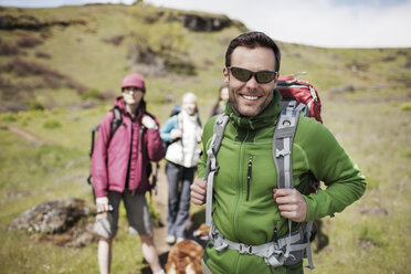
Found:
<path fill-rule="evenodd" d="M 274 97 L 264 112 L 255 117 L 236 116 L 228 104 L 230 120 L 217 155 L 220 169 L 214 177 L 213 223 L 229 240 L 249 245 L 273 241 L 287 233 L 287 220 L 280 215 L 272 189 L 277 187 L 276 169 L 272 156 L 275 125 L 281 113 L 281 95 Z M 213 134 L 215 117 L 204 126 L 203 151 Z M 339 146 L 333 134 L 314 118 L 301 116 L 293 143 L 294 187 L 307 201 L 306 220 L 315 220 L 342 211 L 359 199 L 366 181 L 356 164 Z M 251 161 L 251 179 L 247 180 Z M 207 154 L 198 166 L 199 178 L 204 177 Z M 310 176 L 324 181 L 327 188 L 307 193 Z M 293 223 L 293 230 L 299 224 Z M 217 251 L 208 245 L 204 262 L 213 273 L 303 273 L 302 263 L 293 266 L 271 267 L 256 255 L 239 254 L 225 249 Z"/>

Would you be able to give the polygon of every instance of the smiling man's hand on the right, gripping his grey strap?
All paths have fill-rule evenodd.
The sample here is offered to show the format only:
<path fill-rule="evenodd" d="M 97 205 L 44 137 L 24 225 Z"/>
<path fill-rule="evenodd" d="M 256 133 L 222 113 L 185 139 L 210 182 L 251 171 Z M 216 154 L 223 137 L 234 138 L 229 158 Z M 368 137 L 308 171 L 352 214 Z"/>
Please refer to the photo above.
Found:
<path fill-rule="evenodd" d="M 304 222 L 307 217 L 307 202 L 296 189 L 273 189 L 274 201 L 282 217 L 294 222 Z"/>

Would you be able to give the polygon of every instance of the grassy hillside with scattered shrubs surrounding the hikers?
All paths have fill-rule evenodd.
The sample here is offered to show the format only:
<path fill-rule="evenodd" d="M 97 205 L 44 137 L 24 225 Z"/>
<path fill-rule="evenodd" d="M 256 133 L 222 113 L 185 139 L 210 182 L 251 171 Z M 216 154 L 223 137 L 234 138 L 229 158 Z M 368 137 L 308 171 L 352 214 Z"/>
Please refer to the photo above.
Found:
<path fill-rule="evenodd" d="M 0 7 L 4 18 L 31 29 L 0 29 L 0 272 L 97 273 L 96 244 L 66 249 L 4 230 L 45 199 L 92 200 L 85 183 L 89 129 L 110 107 L 125 74 L 146 72 L 149 110 L 160 123 L 176 104 L 168 97 L 178 101 L 189 91 L 199 95 L 204 122 L 222 82 L 224 49 L 243 27 L 194 32 L 173 21 L 178 11 L 149 6 Z M 141 33 L 143 45 L 136 41 Z M 171 42 L 156 48 L 162 36 Z M 315 243 L 316 272 L 408 273 L 411 49 L 280 46 L 281 73 L 308 72 L 301 77 L 318 87 L 325 124 L 368 180 L 360 201 L 324 219 L 328 245 Z M 143 52 L 151 64 L 143 62 Z M 15 135 L 12 126 L 43 145 Z M 113 272 L 146 273 L 139 243 L 129 241 L 120 220 Z"/>

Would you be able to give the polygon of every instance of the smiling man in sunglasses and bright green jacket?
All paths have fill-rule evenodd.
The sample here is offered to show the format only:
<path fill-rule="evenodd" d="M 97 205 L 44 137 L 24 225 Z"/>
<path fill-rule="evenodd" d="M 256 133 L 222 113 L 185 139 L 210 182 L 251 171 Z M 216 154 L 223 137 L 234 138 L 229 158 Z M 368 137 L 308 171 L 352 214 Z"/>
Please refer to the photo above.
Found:
<path fill-rule="evenodd" d="M 333 134 L 304 116 L 299 116 L 292 148 L 294 189 L 277 188 L 272 141 L 282 109 L 276 89 L 280 64 L 280 49 L 261 32 L 239 35 L 225 53 L 229 122 L 217 154 L 220 168 L 213 180 L 212 223 L 232 246 L 276 243 L 291 233 L 288 220 L 294 232 L 302 222 L 342 211 L 366 189 L 363 176 Z M 210 146 L 214 122 L 215 117 L 204 126 L 203 151 Z M 191 186 L 196 204 L 205 202 L 207 157 L 202 155 L 199 179 Z M 327 189 L 307 194 L 312 176 Z M 232 246 L 208 244 L 204 273 L 303 273 L 302 260 L 273 266 L 251 250 Z"/>

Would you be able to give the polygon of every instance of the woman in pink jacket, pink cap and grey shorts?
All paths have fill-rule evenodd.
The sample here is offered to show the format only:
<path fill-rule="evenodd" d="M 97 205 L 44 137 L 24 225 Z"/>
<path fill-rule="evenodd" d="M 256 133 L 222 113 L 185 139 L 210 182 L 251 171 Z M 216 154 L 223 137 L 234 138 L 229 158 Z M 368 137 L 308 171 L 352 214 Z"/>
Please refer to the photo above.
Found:
<path fill-rule="evenodd" d="M 157 118 L 146 112 L 144 77 L 138 73 L 127 75 L 123 80 L 122 92 L 123 96 L 115 102 L 122 115 L 122 125 L 110 137 L 114 112 L 104 116 L 92 157 L 98 212 L 94 230 L 101 236 L 98 266 L 101 273 L 109 273 L 118 207 L 123 199 L 129 233 L 140 235 L 143 255 L 152 273 L 164 273 L 154 244 L 145 192 L 149 189 L 150 161 L 159 161 L 165 156 L 165 149 Z"/>

